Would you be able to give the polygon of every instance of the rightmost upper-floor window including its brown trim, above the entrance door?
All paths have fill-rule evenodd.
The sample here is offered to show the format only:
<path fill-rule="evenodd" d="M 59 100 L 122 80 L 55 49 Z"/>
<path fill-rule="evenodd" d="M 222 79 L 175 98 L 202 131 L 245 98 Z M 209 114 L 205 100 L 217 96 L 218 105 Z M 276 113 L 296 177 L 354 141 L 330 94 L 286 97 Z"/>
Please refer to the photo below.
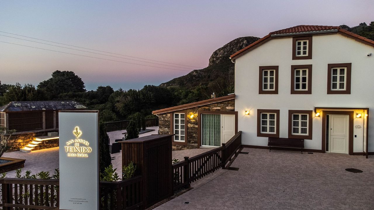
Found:
<path fill-rule="evenodd" d="M 327 65 L 327 94 L 350 94 L 352 63 Z"/>

